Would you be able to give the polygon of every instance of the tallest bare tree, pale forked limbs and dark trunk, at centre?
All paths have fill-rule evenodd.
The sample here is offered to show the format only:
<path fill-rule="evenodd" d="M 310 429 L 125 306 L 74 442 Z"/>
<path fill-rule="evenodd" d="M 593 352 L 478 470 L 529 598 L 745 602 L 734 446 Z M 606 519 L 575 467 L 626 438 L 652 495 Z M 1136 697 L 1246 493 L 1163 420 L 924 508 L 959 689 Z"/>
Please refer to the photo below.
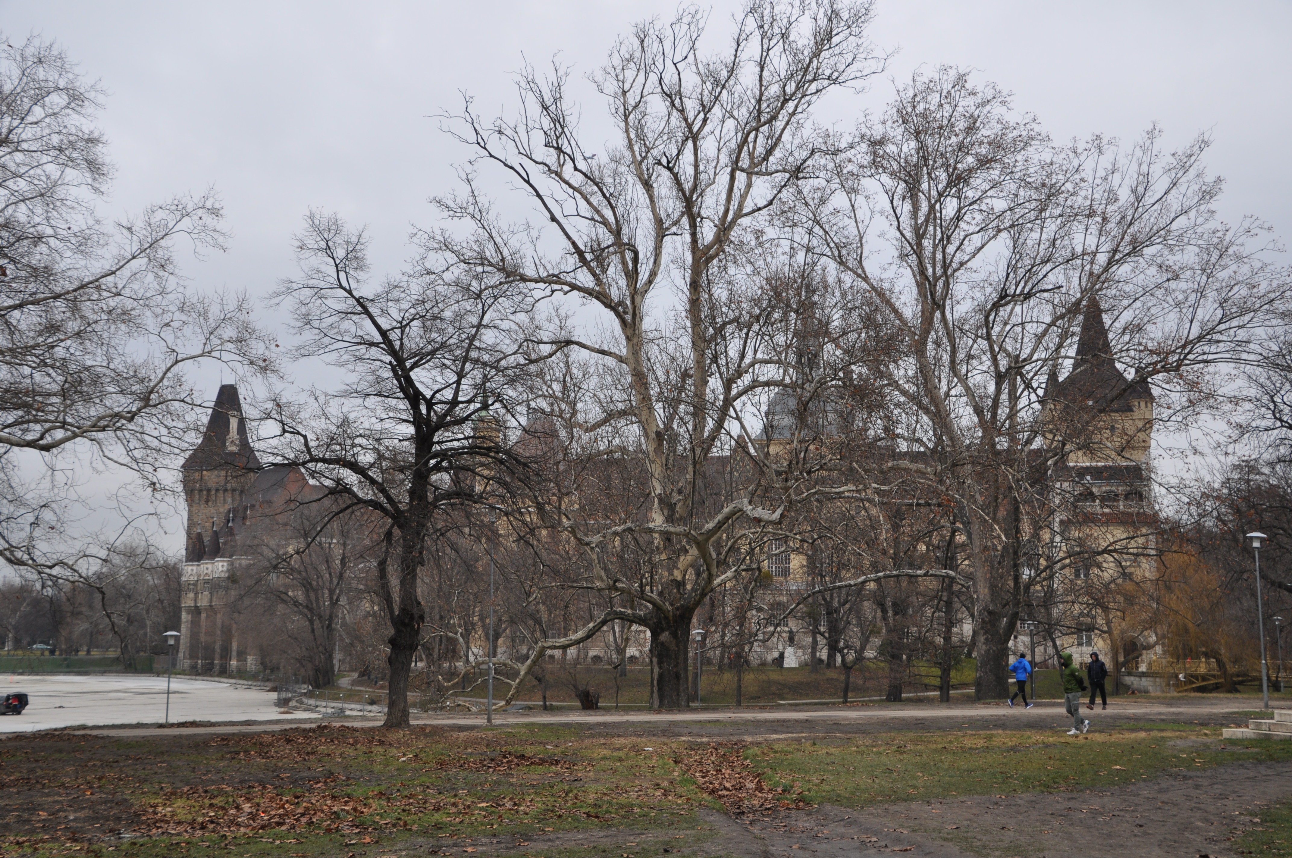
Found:
<path fill-rule="evenodd" d="M 589 584 L 637 607 L 611 609 L 575 637 L 618 620 L 647 628 L 652 706 L 686 706 L 691 618 L 752 569 L 739 534 L 776 521 L 792 485 L 765 456 L 753 465 L 757 454 L 748 474 L 733 464 L 729 485 L 705 483 L 717 479 L 716 456 L 744 455 L 735 437 L 745 410 L 788 372 L 783 353 L 770 354 L 757 273 L 766 260 L 755 257 L 773 252 L 771 209 L 829 146 L 810 123 L 813 107 L 882 67 L 864 35 L 871 16 L 866 1 L 755 0 L 716 53 L 702 44 L 699 9 L 637 25 L 590 78 L 614 127 L 603 151 L 583 142 L 559 67 L 550 78 L 521 74 L 514 120 L 486 121 L 468 103 L 453 121 L 477 152 L 473 169 L 499 168 L 552 231 L 503 224 L 470 172 L 466 191 L 441 204 L 474 230 L 441 234 L 443 253 L 589 320 L 583 333 L 563 323 L 536 331 L 536 349 L 579 351 L 606 382 L 606 395 L 576 416 L 580 434 L 630 461 L 641 494 L 612 522 L 559 525 L 584 547 Z M 652 562 L 629 578 L 610 560 L 612 544 L 638 534 Z"/>

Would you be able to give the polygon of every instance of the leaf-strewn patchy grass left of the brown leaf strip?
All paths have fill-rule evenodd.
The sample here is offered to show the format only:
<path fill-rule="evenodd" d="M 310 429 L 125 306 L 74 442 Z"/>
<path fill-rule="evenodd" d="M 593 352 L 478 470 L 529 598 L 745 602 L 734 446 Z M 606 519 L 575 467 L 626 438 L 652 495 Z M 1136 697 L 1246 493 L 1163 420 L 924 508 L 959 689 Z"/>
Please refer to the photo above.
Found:
<path fill-rule="evenodd" d="M 667 748 L 534 725 L 448 733 L 323 727 L 118 742 L 5 740 L 0 854 L 220 845 L 340 854 L 607 827 L 694 828 L 708 800 Z M 116 839 L 121 831 L 138 835 Z M 287 846 L 291 846 L 288 850 Z M 663 848 L 663 846 L 662 846 Z"/>

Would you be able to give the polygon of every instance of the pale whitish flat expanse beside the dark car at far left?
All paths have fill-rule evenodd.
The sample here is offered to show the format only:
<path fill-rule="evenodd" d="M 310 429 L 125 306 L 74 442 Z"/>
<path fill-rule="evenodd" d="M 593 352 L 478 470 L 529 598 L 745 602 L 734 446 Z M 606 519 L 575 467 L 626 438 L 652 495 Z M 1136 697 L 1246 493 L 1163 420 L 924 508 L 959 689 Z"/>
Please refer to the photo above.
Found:
<path fill-rule="evenodd" d="M 0 691 L 26 691 L 22 715 L 0 716 L 0 734 L 109 724 L 160 724 L 165 717 L 164 676 L 6 676 Z M 171 680 L 171 721 L 309 720 L 280 715 L 276 695 L 262 687 L 208 680 Z"/>

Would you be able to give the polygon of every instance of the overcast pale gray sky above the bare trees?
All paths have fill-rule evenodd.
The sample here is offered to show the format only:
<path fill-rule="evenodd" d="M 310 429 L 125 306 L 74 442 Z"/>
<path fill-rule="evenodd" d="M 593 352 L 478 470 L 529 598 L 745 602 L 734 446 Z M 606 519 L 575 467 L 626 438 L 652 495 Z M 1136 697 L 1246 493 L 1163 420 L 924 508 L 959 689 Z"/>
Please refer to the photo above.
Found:
<path fill-rule="evenodd" d="M 705 4 L 700 4 L 705 5 Z M 729 30 L 735 3 L 712 4 Z M 198 287 L 260 295 L 293 271 L 289 235 L 309 207 L 367 224 L 379 271 L 404 256 L 411 222 L 452 186 L 465 152 L 438 131 L 470 92 L 482 112 L 514 106 L 510 72 L 559 53 L 593 70 L 664 0 L 592 3 L 39 3 L 0 0 L 10 41 L 56 39 L 111 93 L 101 125 L 118 164 L 105 213 L 214 185 L 227 253 L 189 266 Z M 873 39 L 898 50 L 871 92 L 831 103 L 877 110 L 890 79 L 920 66 L 974 68 L 1065 140 L 1168 145 L 1209 131 L 1222 216 L 1258 214 L 1292 234 L 1292 3 L 879 0 Z M 588 101 L 585 114 L 599 105 Z M 214 394 L 218 376 L 203 379 Z"/>

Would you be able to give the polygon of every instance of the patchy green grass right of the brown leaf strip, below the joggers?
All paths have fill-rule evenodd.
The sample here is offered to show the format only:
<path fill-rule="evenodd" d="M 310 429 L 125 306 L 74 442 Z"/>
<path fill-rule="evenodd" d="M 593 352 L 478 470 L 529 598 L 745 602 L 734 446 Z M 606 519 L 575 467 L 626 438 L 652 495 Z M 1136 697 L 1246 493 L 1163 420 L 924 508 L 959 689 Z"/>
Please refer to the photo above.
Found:
<path fill-rule="evenodd" d="M 1185 742 L 1181 742 L 1181 740 Z M 745 753 L 773 786 L 846 808 L 955 795 L 1125 786 L 1172 769 L 1234 760 L 1218 730 L 1191 725 L 1089 733 L 889 733 L 848 742 L 770 743 Z M 1233 746 L 1233 742 L 1229 742 Z M 1244 760 L 1292 760 L 1292 743 L 1256 742 Z"/>

